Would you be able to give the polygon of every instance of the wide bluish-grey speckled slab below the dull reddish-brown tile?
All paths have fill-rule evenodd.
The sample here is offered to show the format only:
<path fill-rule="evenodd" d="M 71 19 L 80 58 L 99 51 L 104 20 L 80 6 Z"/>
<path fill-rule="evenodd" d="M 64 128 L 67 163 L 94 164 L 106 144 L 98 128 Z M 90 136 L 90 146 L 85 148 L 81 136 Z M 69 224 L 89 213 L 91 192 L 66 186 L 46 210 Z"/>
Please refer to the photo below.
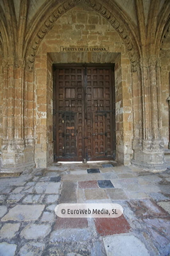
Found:
<path fill-rule="evenodd" d="M 64 230 L 55 230 L 50 235 L 50 242 L 83 242 L 91 239 L 89 230 L 77 228 L 70 228 Z"/>

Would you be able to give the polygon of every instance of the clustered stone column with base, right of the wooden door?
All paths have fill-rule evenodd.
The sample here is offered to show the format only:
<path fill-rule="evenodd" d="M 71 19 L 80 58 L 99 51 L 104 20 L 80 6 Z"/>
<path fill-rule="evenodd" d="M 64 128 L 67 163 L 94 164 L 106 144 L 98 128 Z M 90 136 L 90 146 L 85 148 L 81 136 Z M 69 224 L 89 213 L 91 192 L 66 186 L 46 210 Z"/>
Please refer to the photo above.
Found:
<path fill-rule="evenodd" d="M 161 138 L 161 80 L 160 64 L 156 56 L 140 60 L 142 81 L 142 140 L 133 145 L 135 164 L 152 171 L 166 169 L 164 141 Z M 135 140 L 134 140 L 135 141 Z"/>

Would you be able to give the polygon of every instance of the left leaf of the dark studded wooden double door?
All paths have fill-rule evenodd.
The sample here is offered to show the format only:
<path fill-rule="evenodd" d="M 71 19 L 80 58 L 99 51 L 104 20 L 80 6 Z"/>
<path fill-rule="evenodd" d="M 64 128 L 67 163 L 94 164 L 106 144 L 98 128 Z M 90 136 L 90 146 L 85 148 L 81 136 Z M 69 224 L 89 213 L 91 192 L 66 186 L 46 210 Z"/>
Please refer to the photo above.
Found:
<path fill-rule="evenodd" d="M 84 68 L 56 70 L 57 161 L 82 161 L 84 155 Z"/>

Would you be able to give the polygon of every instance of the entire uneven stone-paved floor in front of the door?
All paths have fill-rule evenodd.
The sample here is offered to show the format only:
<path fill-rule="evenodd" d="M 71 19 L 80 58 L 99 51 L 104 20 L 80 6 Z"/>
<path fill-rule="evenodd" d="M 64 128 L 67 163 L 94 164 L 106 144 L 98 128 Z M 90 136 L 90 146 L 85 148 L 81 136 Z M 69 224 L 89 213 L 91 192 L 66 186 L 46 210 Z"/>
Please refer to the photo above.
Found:
<path fill-rule="evenodd" d="M 53 164 L 0 179 L 1 256 L 170 255 L 170 169 Z M 59 218 L 59 203 L 119 203 L 119 218 Z"/>

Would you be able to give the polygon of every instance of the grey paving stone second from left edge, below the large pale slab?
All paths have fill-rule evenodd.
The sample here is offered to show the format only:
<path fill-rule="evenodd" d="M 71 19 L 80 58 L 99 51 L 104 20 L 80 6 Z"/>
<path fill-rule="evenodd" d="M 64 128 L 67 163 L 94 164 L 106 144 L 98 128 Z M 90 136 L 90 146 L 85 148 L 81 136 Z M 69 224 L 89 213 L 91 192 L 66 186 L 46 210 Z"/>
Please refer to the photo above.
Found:
<path fill-rule="evenodd" d="M 50 233 L 51 227 L 47 224 L 28 224 L 21 231 L 21 238 L 26 239 L 45 239 Z"/>

